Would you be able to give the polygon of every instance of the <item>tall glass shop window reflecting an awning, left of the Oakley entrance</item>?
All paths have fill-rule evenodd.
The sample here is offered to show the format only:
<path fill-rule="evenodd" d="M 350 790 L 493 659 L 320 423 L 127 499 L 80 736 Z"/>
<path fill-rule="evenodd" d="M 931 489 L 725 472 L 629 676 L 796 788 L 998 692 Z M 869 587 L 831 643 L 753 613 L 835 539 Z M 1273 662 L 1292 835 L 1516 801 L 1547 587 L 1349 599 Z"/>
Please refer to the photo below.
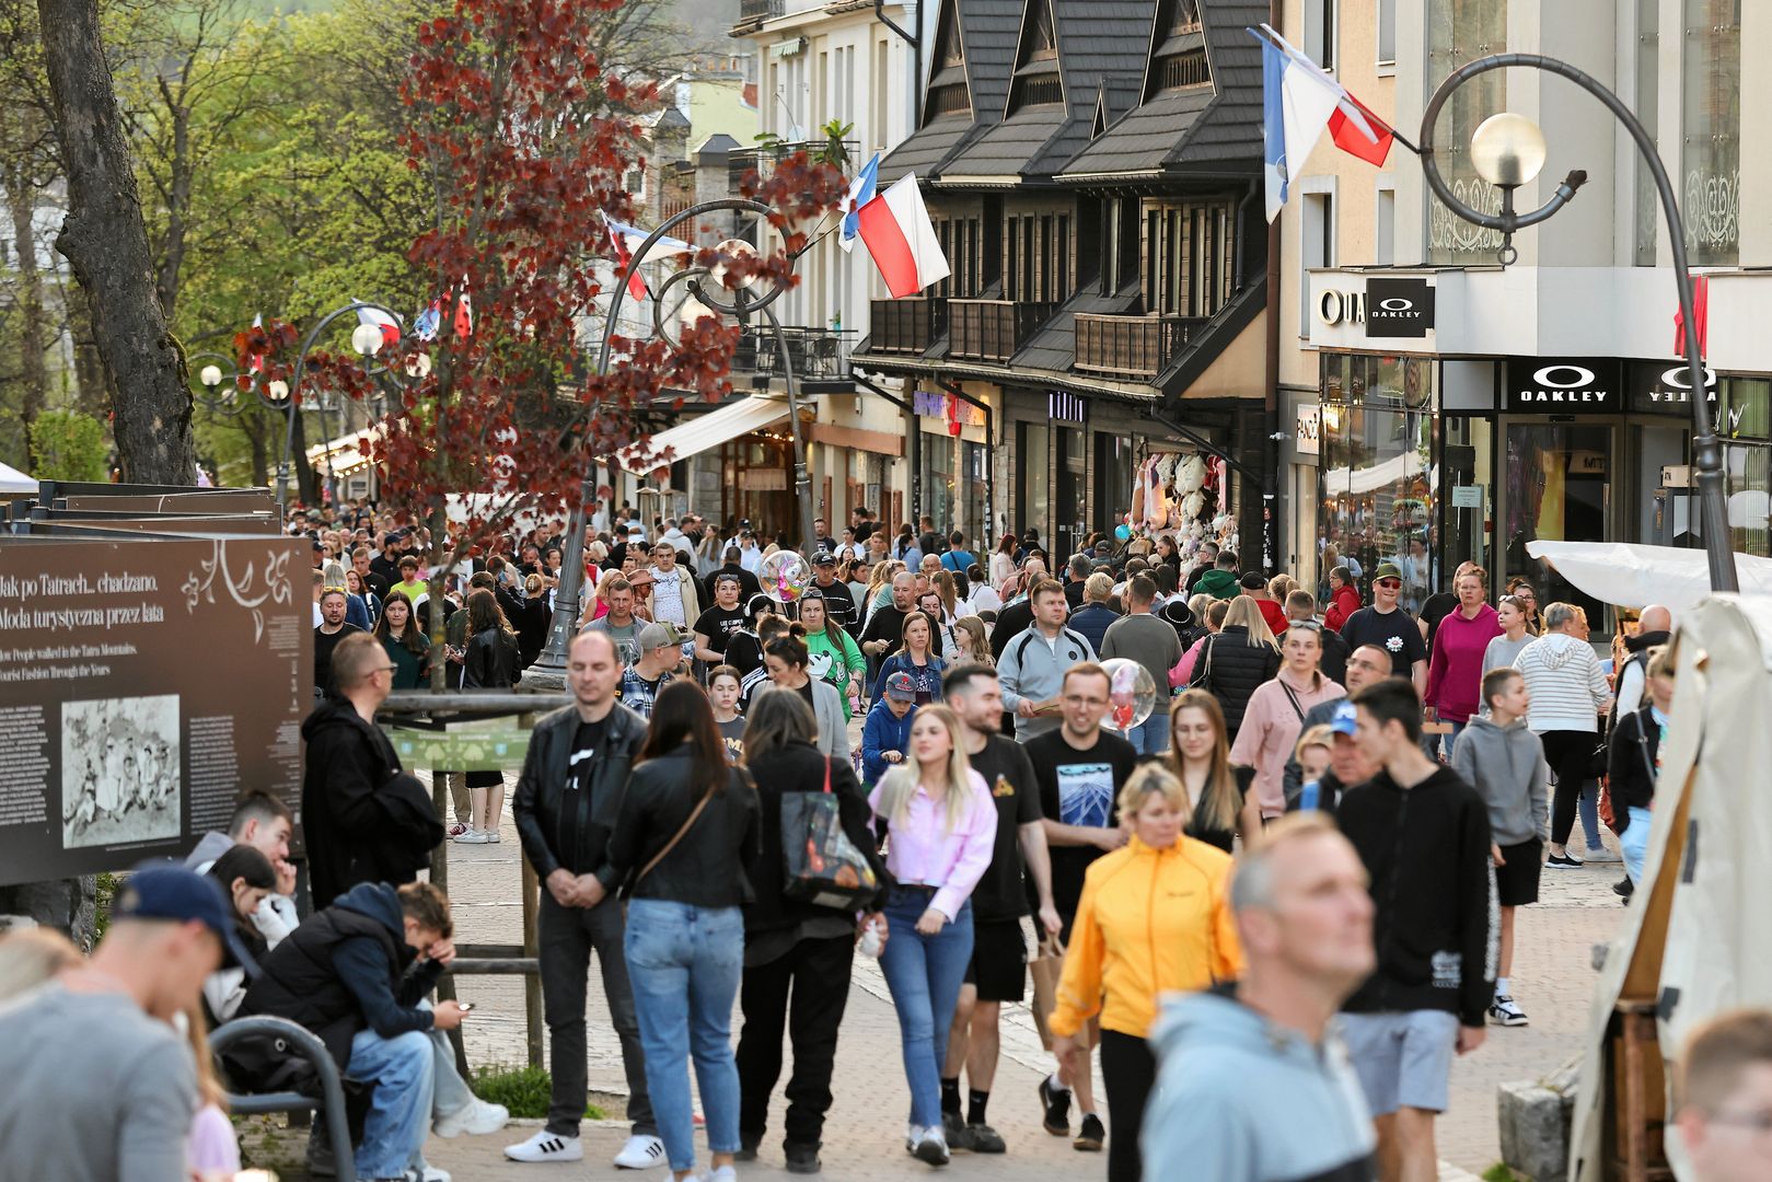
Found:
<path fill-rule="evenodd" d="M 1437 587 L 1434 363 L 1331 353 L 1320 365 L 1318 565 L 1354 567 L 1364 590 L 1395 562 L 1416 611 Z"/>

